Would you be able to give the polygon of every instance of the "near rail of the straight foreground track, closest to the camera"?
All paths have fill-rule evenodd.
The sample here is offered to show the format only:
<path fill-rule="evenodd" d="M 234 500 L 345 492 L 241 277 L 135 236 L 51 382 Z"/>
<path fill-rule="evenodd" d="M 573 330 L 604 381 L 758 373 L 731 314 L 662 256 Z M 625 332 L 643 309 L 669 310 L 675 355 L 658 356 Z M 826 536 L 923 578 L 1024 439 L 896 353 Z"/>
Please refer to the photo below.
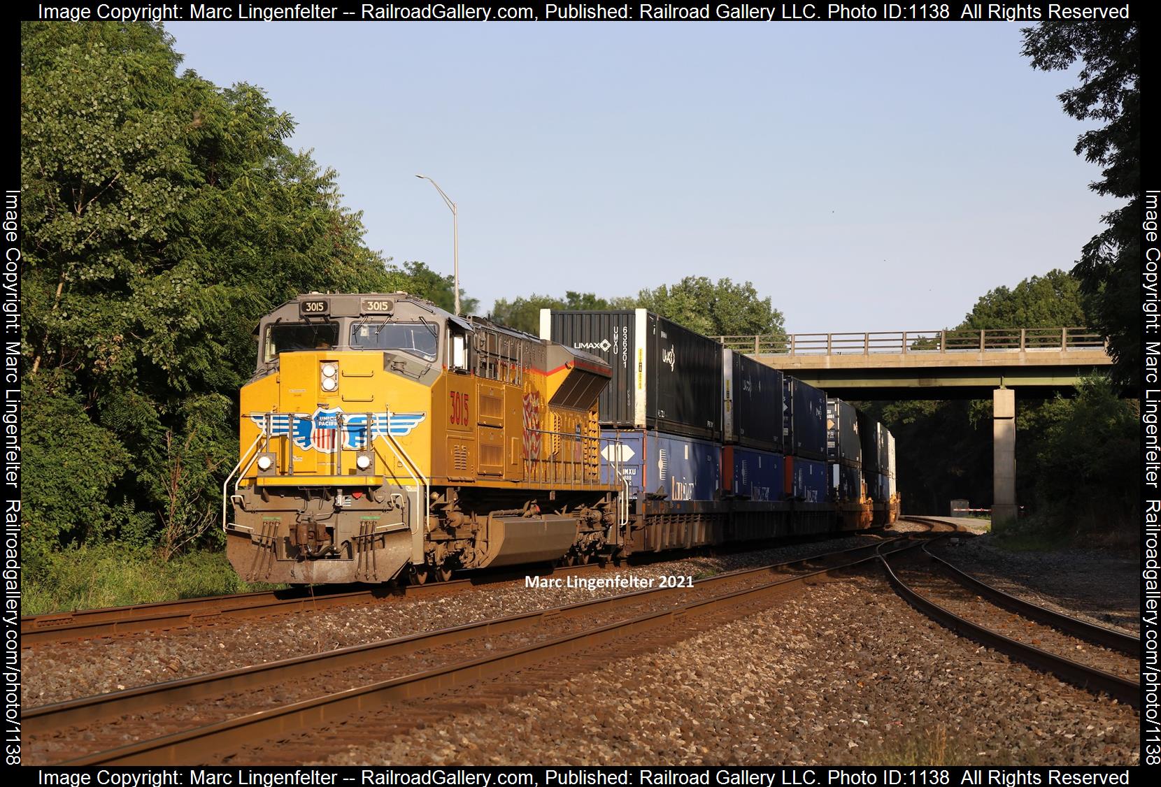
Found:
<path fill-rule="evenodd" d="M 382 707 L 399 700 L 424 696 L 433 692 L 447 691 L 532 664 L 560 659 L 614 640 L 663 626 L 671 626 L 686 615 L 707 614 L 722 607 L 800 589 L 832 572 L 849 570 L 867 562 L 880 559 L 881 548 L 886 543 L 902 544 L 903 549 L 908 549 L 921 544 L 922 541 L 899 539 L 892 542 L 861 547 L 859 548 L 860 550 L 873 550 L 872 554 L 796 577 L 779 578 L 755 587 L 737 590 L 708 599 L 699 599 L 661 612 L 647 613 L 522 648 L 500 651 L 467 662 L 447 664 L 424 672 L 294 702 L 281 708 L 264 710 L 151 741 L 142 741 L 103 752 L 95 752 L 59 763 L 59 765 L 189 765 L 193 763 L 207 763 L 230 751 L 230 748 L 236 746 L 241 739 L 259 742 L 276 736 L 284 736 L 316 727 L 319 723 L 348 716 L 352 713 Z M 766 570 L 769 568 L 763 566 Z M 763 569 L 750 569 L 748 572 Z M 736 578 L 740 575 L 738 572 L 731 572 L 731 575 L 717 575 L 717 577 L 709 577 L 708 579 L 720 582 L 729 576 Z M 665 589 L 666 592 L 672 589 Z M 656 593 L 659 591 L 643 591 L 642 593 L 650 592 Z M 623 599 L 625 597 L 612 598 Z M 597 599 L 596 601 L 610 600 Z M 586 601 L 574 606 L 585 605 L 592 606 L 593 602 Z"/>

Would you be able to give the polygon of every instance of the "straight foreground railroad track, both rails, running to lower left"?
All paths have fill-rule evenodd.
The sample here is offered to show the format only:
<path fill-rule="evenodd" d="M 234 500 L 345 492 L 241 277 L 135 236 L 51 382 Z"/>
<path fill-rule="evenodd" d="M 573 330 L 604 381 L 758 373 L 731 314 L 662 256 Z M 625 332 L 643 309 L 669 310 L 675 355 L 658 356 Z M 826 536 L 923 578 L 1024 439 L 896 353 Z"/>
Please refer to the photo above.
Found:
<path fill-rule="evenodd" d="M 260 752 L 262 742 L 273 737 L 283 739 L 322 723 L 341 725 L 351 714 L 376 707 L 398 706 L 408 719 L 396 722 L 413 723 L 433 713 L 421 698 L 482 680 L 504 679 L 502 693 L 520 693 L 519 681 L 507 680 L 515 671 L 563 664 L 575 672 L 592 660 L 578 654 L 626 637 L 671 636 L 695 619 L 704 622 L 707 614 L 765 606 L 778 594 L 821 582 L 831 572 L 877 561 L 884 544 L 900 549 L 920 543 L 895 539 L 722 573 L 698 580 L 692 589 L 642 590 L 42 706 L 23 716 L 26 761 L 201 764 L 239 761 L 239 757 L 268 761 Z M 827 565 L 810 565 L 820 562 Z M 771 577 L 795 569 L 803 572 Z M 570 658 L 562 660 L 565 657 Z M 489 696 L 488 692 L 469 694 L 453 703 Z M 137 737 L 142 739 L 124 745 Z M 294 748 L 290 751 L 291 757 L 298 753 Z"/>

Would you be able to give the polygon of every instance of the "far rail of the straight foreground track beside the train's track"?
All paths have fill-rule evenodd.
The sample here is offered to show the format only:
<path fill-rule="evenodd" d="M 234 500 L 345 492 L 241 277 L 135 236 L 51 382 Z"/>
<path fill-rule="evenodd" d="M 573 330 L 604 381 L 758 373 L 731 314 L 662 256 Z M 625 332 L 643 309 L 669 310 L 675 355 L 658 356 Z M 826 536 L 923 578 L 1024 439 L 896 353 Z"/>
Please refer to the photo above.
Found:
<path fill-rule="evenodd" d="M 694 585 L 706 587 L 749 576 L 769 573 L 788 566 L 814 563 L 820 559 L 845 558 L 860 551 L 874 551 L 879 547 L 880 543 L 863 544 L 753 569 L 740 569 L 698 579 L 694 582 Z M 37 735 L 48 734 L 52 729 L 91 724 L 94 721 L 120 717 L 130 713 L 167 708 L 176 702 L 189 702 L 192 700 L 216 696 L 222 693 L 245 691 L 276 683 L 288 683 L 304 677 L 311 678 L 317 676 L 322 670 L 340 670 L 363 664 L 383 663 L 391 657 L 404 656 L 417 650 L 440 648 L 477 636 L 506 634 L 529 628 L 549 619 L 574 618 L 582 614 L 590 614 L 593 611 L 615 609 L 620 606 L 636 604 L 644 597 L 663 598 L 679 593 L 683 590 L 686 589 L 644 589 L 630 593 L 589 599 L 560 607 L 509 615 L 506 618 L 483 620 L 446 629 L 421 631 L 391 640 L 340 648 L 322 654 L 308 654 L 277 662 L 268 662 L 190 678 L 179 678 L 160 684 L 136 686 L 118 692 L 95 694 L 93 696 L 27 708 L 23 713 L 24 735 L 31 738 Z"/>

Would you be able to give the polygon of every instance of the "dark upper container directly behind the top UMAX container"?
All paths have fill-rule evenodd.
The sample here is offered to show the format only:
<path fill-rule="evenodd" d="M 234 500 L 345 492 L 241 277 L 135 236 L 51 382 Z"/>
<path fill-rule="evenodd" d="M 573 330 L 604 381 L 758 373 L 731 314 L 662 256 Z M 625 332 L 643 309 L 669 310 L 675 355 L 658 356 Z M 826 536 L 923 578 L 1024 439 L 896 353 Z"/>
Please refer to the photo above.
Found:
<path fill-rule="evenodd" d="M 724 441 L 783 450 L 783 373 L 752 358 L 722 349 Z"/>

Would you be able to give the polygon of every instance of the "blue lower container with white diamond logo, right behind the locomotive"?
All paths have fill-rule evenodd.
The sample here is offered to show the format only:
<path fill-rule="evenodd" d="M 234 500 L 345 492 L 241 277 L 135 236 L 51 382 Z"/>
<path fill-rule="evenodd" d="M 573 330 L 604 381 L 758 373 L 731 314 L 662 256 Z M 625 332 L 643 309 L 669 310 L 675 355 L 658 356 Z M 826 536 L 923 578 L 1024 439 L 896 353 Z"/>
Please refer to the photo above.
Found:
<path fill-rule="evenodd" d="M 721 489 L 721 446 L 708 440 L 647 429 L 603 429 L 605 474 L 620 455 L 629 497 L 716 500 Z"/>

